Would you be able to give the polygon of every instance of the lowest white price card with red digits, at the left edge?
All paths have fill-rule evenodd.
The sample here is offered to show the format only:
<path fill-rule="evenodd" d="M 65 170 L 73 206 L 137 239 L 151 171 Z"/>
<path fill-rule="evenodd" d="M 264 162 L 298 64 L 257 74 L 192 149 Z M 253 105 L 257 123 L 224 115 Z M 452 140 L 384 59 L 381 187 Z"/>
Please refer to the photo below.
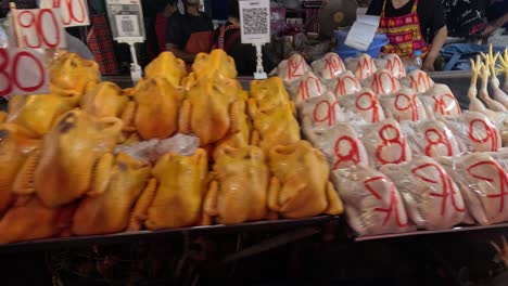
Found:
<path fill-rule="evenodd" d="M 48 93 L 43 50 L 0 49 L 0 96 Z"/>

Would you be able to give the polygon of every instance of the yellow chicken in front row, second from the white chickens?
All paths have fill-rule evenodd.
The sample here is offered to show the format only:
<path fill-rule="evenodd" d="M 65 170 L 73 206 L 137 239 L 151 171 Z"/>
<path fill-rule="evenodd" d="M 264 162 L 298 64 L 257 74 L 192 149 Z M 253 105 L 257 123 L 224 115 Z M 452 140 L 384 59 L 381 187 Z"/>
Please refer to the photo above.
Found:
<path fill-rule="evenodd" d="M 205 224 L 214 218 L 232 224 L 267 217 L 269 171 L 261 148 L 223 148 L 213 178 L 203 205 Z"/>

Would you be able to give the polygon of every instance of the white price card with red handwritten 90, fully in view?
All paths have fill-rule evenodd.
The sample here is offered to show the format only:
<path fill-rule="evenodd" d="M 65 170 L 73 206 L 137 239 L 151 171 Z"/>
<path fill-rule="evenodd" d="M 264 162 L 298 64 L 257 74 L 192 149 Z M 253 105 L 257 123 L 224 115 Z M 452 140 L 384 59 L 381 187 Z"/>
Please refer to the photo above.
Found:
<path fill-rule="evenodd" d="M 65 48 L 59 11 L 55 9 L 15 10 L 17 46 L 31 49 Z"/>

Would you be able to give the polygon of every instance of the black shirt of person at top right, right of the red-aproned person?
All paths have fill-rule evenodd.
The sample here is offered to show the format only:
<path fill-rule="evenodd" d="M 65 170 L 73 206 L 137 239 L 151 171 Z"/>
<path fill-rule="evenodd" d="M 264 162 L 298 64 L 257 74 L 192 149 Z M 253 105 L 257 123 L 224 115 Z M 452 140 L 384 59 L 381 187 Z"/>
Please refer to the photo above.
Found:
<path fill-rule="evenodd" d="M 479 35 L 486 24 L 487 0 L 442 0 L 448 35 L 466 37 Z"/>

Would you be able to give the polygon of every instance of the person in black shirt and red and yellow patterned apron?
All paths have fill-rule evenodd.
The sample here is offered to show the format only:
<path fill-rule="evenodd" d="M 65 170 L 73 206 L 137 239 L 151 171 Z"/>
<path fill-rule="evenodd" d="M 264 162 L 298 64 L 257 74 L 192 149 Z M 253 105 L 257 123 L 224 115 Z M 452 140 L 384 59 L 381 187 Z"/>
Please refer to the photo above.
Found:
<path fill-rule="evenodd" d="M 441 0 L 372 0 L 367 14 L 381 16 L 379 32 L 390 39 L 384 53 L 407 58 L 419 50 L 424 58 L 422 68 L 434 70 L 447 37 Z"/>

